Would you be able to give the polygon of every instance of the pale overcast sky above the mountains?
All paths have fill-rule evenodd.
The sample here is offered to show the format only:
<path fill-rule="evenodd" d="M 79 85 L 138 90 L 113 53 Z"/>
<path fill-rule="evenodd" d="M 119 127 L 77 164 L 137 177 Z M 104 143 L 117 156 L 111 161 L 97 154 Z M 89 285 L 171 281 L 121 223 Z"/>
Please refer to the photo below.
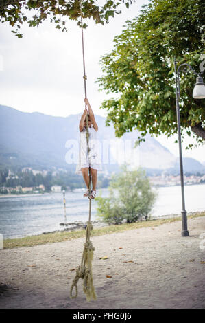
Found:
<path fill-rule="evenodd" d="M 99 60 L 114 47 L 114 36 L 121 34 L 125 21 L 138 16 L 148 0 L 137 0 L 129 9 L 122 5 L 122 13 L 106 25 L 96 25 L 86 19 L 84 49 L 86 60 L 87 96 L 93 111 L 106 117 L 99 109 L 108 95 L 99 92 L 96 80 L 101 76 Z M 19 39 L 5 23 L 0 29 L 0 104 L 23 112 L 67 117 L 84 110 L 84 80 L 82 65 L 82 39 L 75 21 L 67 22 L 68 32 L 61 32 L 45 21 L 40 27 L 23 25 L 23 38 Z M 178 144 L 171 138 L 155 137 L 171 153 L 178 156 Z M 183 157 L 205 162 L 205 146 L 186 151 L 195 143 L 186 136 L 182 143 Z"/>

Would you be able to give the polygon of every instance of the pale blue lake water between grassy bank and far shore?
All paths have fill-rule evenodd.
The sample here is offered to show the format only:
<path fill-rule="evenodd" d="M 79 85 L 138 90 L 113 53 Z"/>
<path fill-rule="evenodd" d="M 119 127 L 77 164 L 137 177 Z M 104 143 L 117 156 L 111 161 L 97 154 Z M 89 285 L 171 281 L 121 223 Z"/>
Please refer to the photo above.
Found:
<path fill-rule="evenodd" d="M 180 186 L 156 188 L 158 199 L 152 216 L 180 214 L 182 210 Z M 88 199 L 84 191 L 67 192 L 67 222 L 88 221 Z M 184 186 L 187 212 L 205 210 L 205 184 Z M 108 190 L 101 190 L 101 196 L 108 196 Z M 92 201 L 91 220 L 96 217 L 97 201 Z M 28 194 L 0 198 L 0 234 L 3 238 L 23 237 L 43 232 L 63 230 L 64 205 L 62 193 Z"/>

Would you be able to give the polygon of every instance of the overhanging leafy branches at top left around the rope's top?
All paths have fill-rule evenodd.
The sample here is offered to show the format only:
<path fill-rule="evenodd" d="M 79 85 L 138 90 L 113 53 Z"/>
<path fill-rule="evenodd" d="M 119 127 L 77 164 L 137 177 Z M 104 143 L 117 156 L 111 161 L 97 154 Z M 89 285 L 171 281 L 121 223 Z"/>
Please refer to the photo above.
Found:
<path fill-rule="evenodd" d="M 67 30 L 66 20 L 77 20 L 80 25 L 80 0 L 1 0 L 0 21 L 8 22 L 14 27 L 14 34 L 22 37 L 19 30 L 23 22 L 27 21 L 29 27 L 40 25 L 45 19 L 50 19 L 56 28 Z M 124 3 L 129 8 L 132 0 L 104 0 L 104 5 L 99 5 L 97 0 L 82 0 L 82 13 L 84 18 L 93 18 L 96 23 L 108 22 L 110 16 L 119 14 L 119 5 Z M 34 13 L 29 18 L 29 12 Z M 86 24 L 84 24 L 86 27 Z"/>

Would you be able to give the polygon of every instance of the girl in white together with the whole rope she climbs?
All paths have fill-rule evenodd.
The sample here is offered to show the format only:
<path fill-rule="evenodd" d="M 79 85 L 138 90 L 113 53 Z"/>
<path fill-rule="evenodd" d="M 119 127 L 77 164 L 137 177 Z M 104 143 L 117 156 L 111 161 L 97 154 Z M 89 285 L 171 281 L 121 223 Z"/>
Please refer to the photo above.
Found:
<path fill-rule="evenodd" d="M 86 68 L 85 68 L 85 59 L 84 59 L 84 36 L 83 36 L 83 25 L 82 25 L 82 0 L 80 1 L 80 12 L 81 12 L 81 32 L 82 32 L 82 56 L 83 56 L 83 68 L 84 68 L 84 91 L 85 97 L 87 97 L 86 91 Z M 93 225 L 91 223 L 91 201 L 95 198 L 96 190 L 95 186 L 97 183 L 97 169 L 100 168 L 99 159 L 100 154 L 97 153 L 96 142 L 96 133 L 98 130 L 97 123 L 95 122 L 95 117 L 91 105 L 88 102 L 88 99 L 85 98 L 85 110 L 80 120 L 80 160 L 77 165 L 77 171 L 81 170 L 84 175 L 84 181 L 88 190 L 84 194 L 88 196 L 89 199 L 89 217 L 86 226 L 86 242 L 84 243 L 84 250 L 82 253 L 81 265 L 77 267 L 75 271 L 75 278 L 71 285 L 70 297 L 77 297 L 77 282 L 80 278 L 83 280 L 83 290 L 86 294 L 86 300 L 96 300 L 97 296 L 95 294 L 95 288 L 93 285 L 93 273 L 92 273 L 92 261 L 93 261 L 93 252 L 95 248 L 91 242 L 91 230 L 93 230 Z M 88 107 L 88 111 L 87 111 Z M 89 113 L 89 114 L 88 114 Z M 92 127 L 93 125 L 93 127 Z M 82 158 L 81 158 L 82 157 Z M 91 191 L 91 172 L 92 181 L 93 181 L 93 190 Z M 73 295 L 73 291 L 75 294 Z"/>

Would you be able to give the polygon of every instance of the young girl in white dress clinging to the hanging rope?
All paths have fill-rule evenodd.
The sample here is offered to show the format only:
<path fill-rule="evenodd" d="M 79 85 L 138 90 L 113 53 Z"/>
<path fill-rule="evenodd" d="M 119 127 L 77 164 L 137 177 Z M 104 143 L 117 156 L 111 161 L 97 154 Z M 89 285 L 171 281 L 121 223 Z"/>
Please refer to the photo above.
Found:
<path fill-rule="evenodd" d="M 89 199 L 95 199 L 96 196 L 96 184 L 97 184 L 97 170 L 101 170 L 101 161 L 99 146 L 97 145 L 97 130 L 98 126 L 95 121 L 93 110 L 91 105 L 88 102 L 88 99 L 85 98 L 84 102 L 86 103 L 87 109 L 84 109 L 84 113 L 80 119 L 79 130 L 80 130 L 80 155 L 79 163 L 76 167 L 76 172 L 82 172 L 82 176 L 87 186 L 87 190 L 84 193 L 84 197 Z M 88 146 L 86 140 L 86 115 L 88 115 Z M 89 153 L 88 153 L 89 147 Z M 91 167 L 91 181 L 93 189 L 91 194 L 89 194 L 89 173 L 88 168 Z"/>

